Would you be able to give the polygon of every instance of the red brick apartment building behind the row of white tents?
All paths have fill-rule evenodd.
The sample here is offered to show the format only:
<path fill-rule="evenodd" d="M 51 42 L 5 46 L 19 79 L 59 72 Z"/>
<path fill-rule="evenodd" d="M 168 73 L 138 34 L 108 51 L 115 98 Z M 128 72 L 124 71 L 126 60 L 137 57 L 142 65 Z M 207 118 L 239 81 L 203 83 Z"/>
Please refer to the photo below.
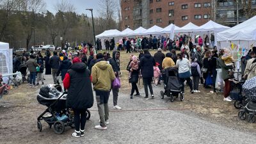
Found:
<path fill-rule="evenodd" d="M 213 17 L 214 0 L 121 0 L 122 30 L 142 26 L 162 28 L 173 23 L 182 27 L 188 22 L 201 26 Z"/>

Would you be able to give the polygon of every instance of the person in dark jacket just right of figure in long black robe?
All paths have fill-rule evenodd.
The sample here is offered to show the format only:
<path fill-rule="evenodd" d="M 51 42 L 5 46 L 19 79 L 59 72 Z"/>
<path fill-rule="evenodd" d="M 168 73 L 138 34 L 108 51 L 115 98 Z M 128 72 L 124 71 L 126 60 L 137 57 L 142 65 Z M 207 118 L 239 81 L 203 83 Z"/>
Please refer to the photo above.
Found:
<path fill-rule="evenodd" d="M 57 82 L 56 77 L 60 67 L 60 62 L 61 60 L 60 60 L 60 57 L 57 56 L 57 51 L 54 51 L 53 56 L 49 60 L 49 64 L 51 65 L 51 68 L 52 68 L 52 78 L 53 78 L 54 84 L 56 84 Z"/>

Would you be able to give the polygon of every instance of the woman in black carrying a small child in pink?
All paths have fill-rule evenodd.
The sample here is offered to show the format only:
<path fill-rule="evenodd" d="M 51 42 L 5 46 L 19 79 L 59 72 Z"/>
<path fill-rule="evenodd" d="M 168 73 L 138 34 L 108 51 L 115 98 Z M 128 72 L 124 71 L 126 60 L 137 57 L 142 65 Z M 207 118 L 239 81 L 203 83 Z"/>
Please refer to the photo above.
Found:
<path fill-rule="evenodd" d="M 126 70 L 128 70 L 130 72 L 131 70 L 131 67 L 130 66 L 130 63 L 132 61 L 132 56 L 131 56 L 131 59 L 126 67 Z M 139 96 L 140 95 L 140 92 L 138 90 L 138 86 L 137 86 L 137 83 L 138 83 L 138 79 L 139 79 L 139 74 L 140 74 L 140 70 L 132 70 L 132 74 L 131 74 L 131 79 L 129 79 L 129 83 L 132 84 L 132 90 L 131 90 L 131 99 L 133 99 L 133 93 L 134 91 L 136 91 L 136 94 L 134 96 Z"/>

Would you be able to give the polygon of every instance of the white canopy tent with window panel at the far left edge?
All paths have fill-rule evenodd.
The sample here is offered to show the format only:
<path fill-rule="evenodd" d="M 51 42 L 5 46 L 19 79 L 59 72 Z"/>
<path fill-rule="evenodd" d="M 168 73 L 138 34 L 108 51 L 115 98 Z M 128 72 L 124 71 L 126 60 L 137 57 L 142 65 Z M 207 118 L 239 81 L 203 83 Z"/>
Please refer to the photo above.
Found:
<path fill-rule="evenodd" d="M 12 74 L 12 49 L 9 49 L 9 44 L 0 42 L 0 73 Z"/>

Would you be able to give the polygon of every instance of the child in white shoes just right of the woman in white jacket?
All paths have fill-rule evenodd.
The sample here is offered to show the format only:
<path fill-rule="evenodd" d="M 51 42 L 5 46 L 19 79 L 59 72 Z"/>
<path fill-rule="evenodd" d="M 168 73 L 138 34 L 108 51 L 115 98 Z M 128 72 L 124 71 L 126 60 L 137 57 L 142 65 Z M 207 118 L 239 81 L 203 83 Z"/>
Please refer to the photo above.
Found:
<path fill-rule="evenodd" d="M 197 63 L 195 56 L 191 58 L 191 75 L 193 76 L 193 88 L 195 93 L 200 93 L 198 86 L 200 77 L 202 77 L 200 67 Z"/>

